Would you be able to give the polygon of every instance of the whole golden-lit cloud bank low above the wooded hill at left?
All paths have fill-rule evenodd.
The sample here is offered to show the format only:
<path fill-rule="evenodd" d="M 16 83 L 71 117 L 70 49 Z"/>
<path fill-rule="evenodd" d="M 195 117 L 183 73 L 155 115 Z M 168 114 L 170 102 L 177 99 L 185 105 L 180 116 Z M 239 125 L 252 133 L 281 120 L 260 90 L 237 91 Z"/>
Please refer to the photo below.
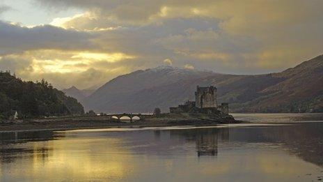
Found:
<path fill-rule="evenodd" d="M 0 70 L 10 70 L 26 80 L 45 78 L 58 89 L 73 84 L 87 88 L 128 73 L 132 63 L 126 64 L 123 61 L 130 61 L 129 59 L 134 57 L 124 54 L 32 50 L 0 56 Z"/>

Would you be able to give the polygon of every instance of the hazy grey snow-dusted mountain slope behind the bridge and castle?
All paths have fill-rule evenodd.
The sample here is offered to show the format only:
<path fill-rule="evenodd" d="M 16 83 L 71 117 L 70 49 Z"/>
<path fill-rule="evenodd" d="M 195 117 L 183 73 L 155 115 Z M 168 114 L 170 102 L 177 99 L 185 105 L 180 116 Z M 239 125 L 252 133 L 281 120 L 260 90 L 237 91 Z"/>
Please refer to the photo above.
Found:
<path fill-rule="evenodd" d="M 156 103 L 155 100 L 158 98 L 146 99 L 145 95 L 140 95 L 146 89 L 209 75 L 214 75 L 214 73 L 184 70 L 170 66 L 137 70 L 134 73 L 111 79 L 92 95 L 85 98 L 83 103 L 86 105 L 86 109 L 95 109 L 97 112 L 152 112 L 151 110 L 155 108 L 153 106 Z M 161 93 L 167 92 L 162 88 L 161 90 Z"/>

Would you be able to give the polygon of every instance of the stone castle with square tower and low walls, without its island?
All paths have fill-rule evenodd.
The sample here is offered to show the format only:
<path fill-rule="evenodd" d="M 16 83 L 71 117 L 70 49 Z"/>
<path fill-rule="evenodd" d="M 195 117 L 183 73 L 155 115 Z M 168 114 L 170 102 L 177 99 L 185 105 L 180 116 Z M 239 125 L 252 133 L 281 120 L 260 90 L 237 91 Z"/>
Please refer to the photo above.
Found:
<path fill-rule="evenodd" d="M 187 101 L 184 105 L 178 107 L 170 107 L 171 113 L 207 113 L 216 114 L 222 112 L 229 114 L 228 103 L 218 105 L 217 92 L 215 86 L 197 86 L 195 92 L 195 101 Z"/>

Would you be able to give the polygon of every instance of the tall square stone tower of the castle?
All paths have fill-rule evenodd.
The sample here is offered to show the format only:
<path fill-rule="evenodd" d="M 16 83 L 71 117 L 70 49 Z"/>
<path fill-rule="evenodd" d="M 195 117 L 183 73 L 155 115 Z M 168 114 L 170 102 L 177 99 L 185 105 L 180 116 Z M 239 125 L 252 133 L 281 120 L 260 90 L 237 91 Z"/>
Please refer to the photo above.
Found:
<path fill-rule="evenodd" d="M 217 103 L 217 93 L 215 86 L 197 86 L 195 92 L 196 107 L 198 108 L 216 108 Z"/>

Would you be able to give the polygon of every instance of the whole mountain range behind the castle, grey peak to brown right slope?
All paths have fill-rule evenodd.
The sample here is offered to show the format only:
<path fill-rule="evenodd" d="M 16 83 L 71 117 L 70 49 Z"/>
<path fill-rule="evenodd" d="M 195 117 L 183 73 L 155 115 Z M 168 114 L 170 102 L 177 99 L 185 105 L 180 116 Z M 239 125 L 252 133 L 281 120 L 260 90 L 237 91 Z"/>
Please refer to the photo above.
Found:
<path fill-rule="evenodd" d="M 155 107 L 168 112 L 194 100 L 197 85 L 216 86 L 219 103 L 229 103 L 231 112 L 323 112 L 323 55 L 281 73 L 228 75 L 159 66 L 120 75 L 89 96 L 70 90 L 86 109 L 143 113 Z"/>

